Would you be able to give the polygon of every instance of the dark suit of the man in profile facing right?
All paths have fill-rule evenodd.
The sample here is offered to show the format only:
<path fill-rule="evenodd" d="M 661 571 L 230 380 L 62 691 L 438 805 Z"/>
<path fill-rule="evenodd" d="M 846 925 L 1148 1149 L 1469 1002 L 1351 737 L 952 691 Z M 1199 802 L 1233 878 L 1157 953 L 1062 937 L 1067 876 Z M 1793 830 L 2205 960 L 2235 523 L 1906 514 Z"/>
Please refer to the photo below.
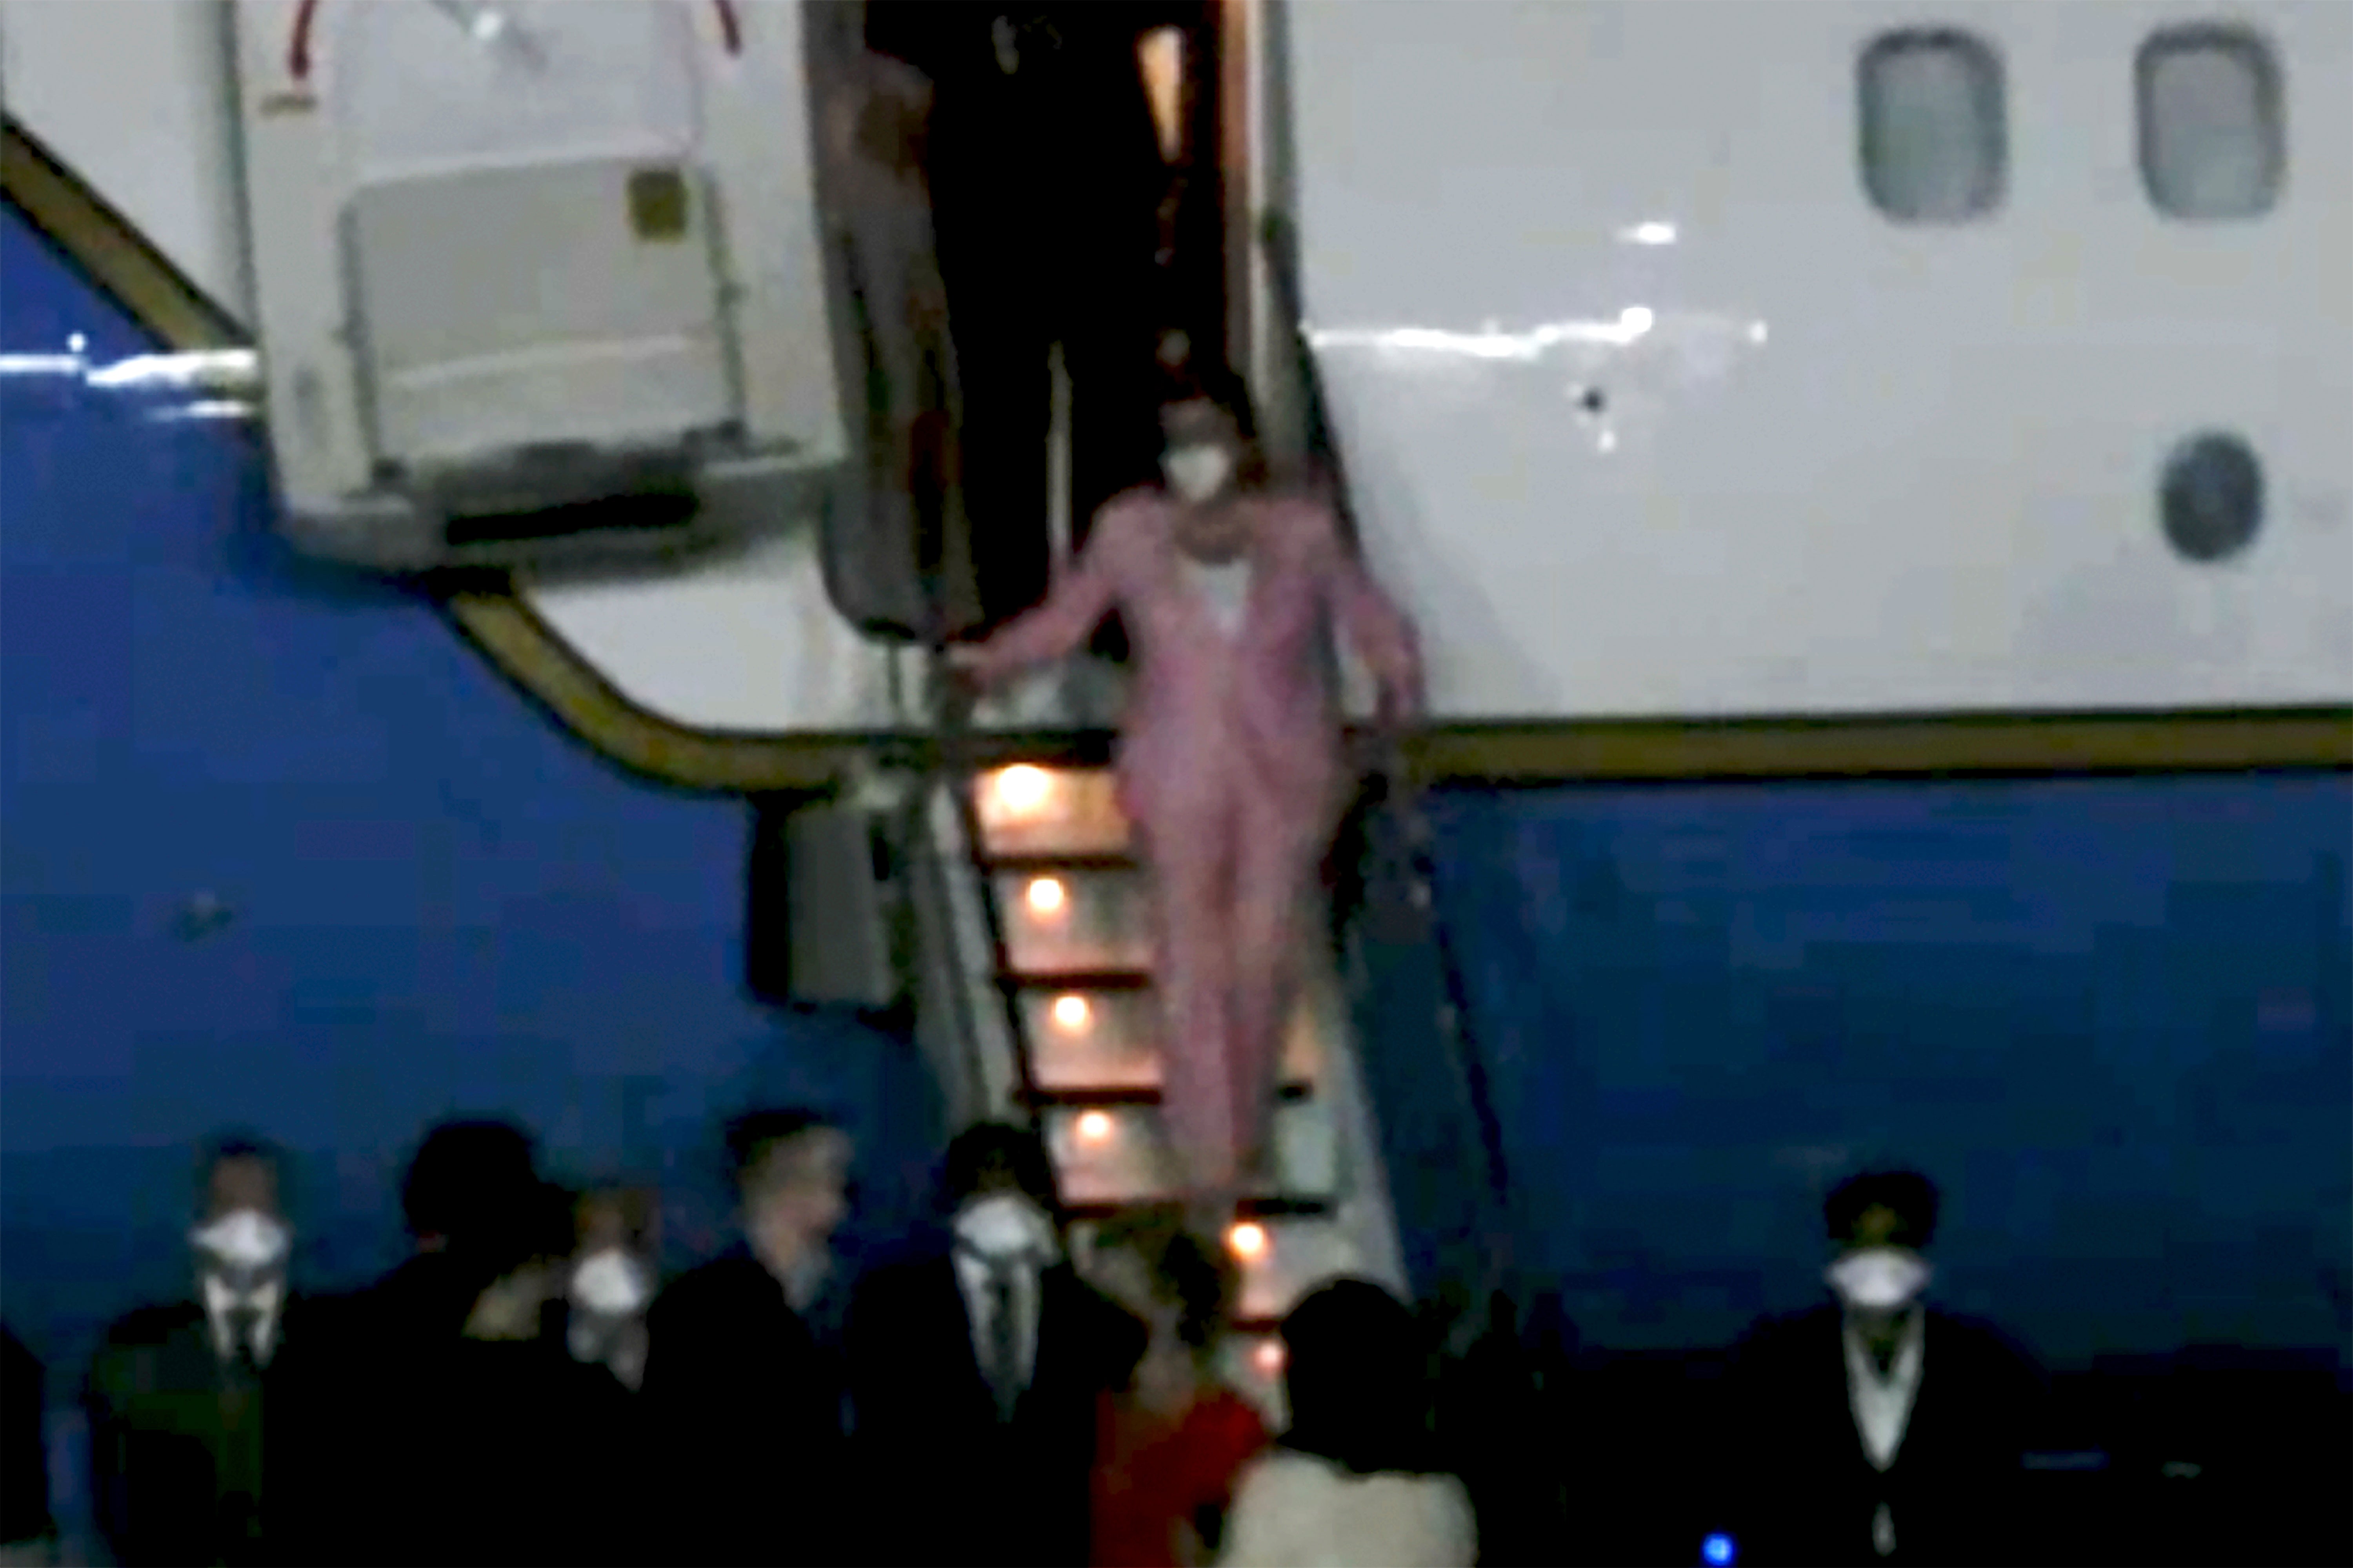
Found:
<path fill-rule="evenodd" d="M 647 1342 L 668 1561 L 842 1561 L 842 1380 L 776 1276 L 741 1245 L 682 1274 Z"/>

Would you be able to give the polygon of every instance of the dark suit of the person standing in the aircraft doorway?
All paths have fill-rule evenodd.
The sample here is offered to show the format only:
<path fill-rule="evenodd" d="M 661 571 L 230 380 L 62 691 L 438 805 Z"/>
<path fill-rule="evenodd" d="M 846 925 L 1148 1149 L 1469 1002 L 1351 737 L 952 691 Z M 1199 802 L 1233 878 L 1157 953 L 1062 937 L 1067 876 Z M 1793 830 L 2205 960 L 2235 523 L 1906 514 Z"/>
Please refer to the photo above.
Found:
<path fill-rule="evenodd" d="M 1082 539 L 1104 501 L 1158 476 L 1153 351 L 1167 323 L 1153 252 L 1167 170 L 1136 40 L 1162 12 L 1184 16 L 1068 2 L 868 7 L 868 45 L 936 85 L 932 205 L 991 622 L 1047 591 L 1049 346 L 1061 344 L 1071 374 L 1073 532 Z"/>

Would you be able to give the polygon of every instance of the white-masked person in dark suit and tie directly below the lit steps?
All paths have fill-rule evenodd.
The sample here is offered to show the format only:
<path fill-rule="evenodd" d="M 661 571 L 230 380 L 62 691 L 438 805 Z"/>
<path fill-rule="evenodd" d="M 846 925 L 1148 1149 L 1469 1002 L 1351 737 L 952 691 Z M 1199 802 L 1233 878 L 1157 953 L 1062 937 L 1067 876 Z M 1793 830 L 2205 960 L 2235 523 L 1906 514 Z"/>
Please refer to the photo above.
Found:
<path fill-rule="evenodd" d="M 1064 1260 L 1052 1182 L 1035 1132 L 967 1128 L 941 1182 L 953 1248 L 875 1269 L 852 1302 L 873 1561 L 1087 1561 L 1096 1408 L 1148 1330 Z"/>

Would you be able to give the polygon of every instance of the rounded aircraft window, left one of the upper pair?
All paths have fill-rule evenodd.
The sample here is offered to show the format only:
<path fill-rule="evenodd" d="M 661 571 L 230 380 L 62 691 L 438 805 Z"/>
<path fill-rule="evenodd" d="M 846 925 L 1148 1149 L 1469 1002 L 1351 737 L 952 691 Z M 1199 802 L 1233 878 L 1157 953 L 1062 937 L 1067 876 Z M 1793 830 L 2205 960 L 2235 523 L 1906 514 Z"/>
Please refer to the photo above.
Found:
<path fill-rule="evenodd" d="M 2002 61 L 1979 38 L 1882 33 L 1857 66 L 1864 188 L 1899 224 L 1967 224 L 2009 174 Z"/>

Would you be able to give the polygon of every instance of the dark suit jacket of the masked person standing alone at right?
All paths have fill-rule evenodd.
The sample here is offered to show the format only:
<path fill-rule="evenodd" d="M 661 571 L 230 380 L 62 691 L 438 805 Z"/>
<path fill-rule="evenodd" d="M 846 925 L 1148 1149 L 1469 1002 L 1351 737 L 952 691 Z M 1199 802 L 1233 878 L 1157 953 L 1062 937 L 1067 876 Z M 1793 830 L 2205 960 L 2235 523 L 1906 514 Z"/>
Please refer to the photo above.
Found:
<path fill-rule="evenodd" d="M 1819 1307 L 1734 1354 L 1734 1540 L 1744 1563 L 2031 1563 L 2019 1479 L 2042 1380 L 1986 1323 L 1929 1309 L 1920 1389 L 1894 1464 L 1864 1453 L 1847 1401 L 1842 1316 Z M 1897 1552 L 1871 1521 L 1887 1504 Z"/>

